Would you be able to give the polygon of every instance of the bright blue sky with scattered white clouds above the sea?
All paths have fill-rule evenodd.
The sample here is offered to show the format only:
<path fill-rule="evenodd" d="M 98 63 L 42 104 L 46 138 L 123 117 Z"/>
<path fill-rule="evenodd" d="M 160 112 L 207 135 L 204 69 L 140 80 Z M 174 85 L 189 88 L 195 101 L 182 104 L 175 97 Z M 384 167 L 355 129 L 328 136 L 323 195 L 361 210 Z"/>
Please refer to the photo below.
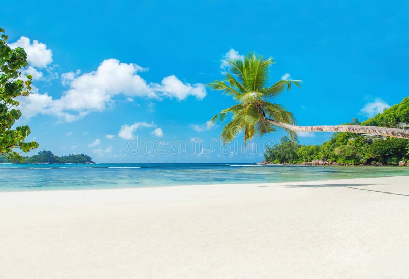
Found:
<path fill-rule="evenodd" d="M 30 50 L 27 71 L 36 74 L 19 122 L 40 143 L 30 154 L 258 162 L 262 146 L 284 132 L 220 150 L 221 126 L 207 128 L 233 104 L 203 85 L 222 77 L 222 60 L 256 51 L 275 59 L 271 83 L 302 79 L 301 89 L 276 99 L 299 125 L 365 120 L 408 96 L 408 9 L 405 1 L 20 1 L 8 5 L 1 26 L 9 44 Z M 146 148 L 130 152 L 132 140 Z"/>

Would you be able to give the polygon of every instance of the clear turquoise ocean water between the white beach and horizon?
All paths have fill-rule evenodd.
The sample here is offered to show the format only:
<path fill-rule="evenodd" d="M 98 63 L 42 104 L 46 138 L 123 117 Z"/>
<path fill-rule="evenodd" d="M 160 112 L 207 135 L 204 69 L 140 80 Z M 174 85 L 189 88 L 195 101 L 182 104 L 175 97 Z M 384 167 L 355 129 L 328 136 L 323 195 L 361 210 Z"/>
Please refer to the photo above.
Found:
<path fill-rule="evenodd" d="M 409 167 L 256 164 L 0 164 L 0 191 L 274 183 L 409 175 Z"/>

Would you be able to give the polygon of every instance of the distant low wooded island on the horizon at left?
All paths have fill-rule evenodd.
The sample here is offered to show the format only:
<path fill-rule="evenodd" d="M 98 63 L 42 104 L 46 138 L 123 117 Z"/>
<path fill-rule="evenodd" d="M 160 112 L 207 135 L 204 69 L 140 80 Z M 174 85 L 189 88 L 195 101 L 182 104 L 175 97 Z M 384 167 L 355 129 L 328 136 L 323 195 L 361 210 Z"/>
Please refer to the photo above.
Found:
<path fill-rule="evenodd" d="M 0 156 L 0 163 L 13 163 L 11 159 Z M 92 158 L 85 154 L 70 154 L 64 156 L 54 155 L 49 150 L 38 152 L 38 155 L 23 157 L 21 164 L 95 164 Z"/>

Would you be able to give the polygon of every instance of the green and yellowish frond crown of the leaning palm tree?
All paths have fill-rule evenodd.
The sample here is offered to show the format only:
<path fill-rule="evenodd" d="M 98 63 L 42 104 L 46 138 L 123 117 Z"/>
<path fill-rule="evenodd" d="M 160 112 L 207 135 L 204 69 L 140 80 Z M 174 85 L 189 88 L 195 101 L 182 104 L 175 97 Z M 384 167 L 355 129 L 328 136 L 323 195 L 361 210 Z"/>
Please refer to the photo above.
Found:
<path fill-rule="evenodd" d="M 283 106 L 266 101 L 266 98 L 274 98 L 284 90 L 290 90 L 292 85 L 300 87 L 301 80 L 280 80 L 268 87 L 269 69 L 274 63 L 272 58 L 263 59 L 255 53 L 249 53 L 244 59 L 232 59 L 226 61 L 229 71 L 223 81 L 216 80 L 208 84 L 213 90 L 222 90 L 223 94 L 231 95 L 238 104 L 216 114 L 210 123 L 224 121 L 228 114 L 232 119 L 227 123 L 221 133 L 221 137 L 229 142 L 239 132 L 244 132 L 244 142 L 251 140 L 256 133 L 262 137 L 266 133 L 276 131 L 275 125 L 266 122 L 263 113 L 275 121 L 287 124 L 296 124 L 292 113 Z M 291 138 L 297 138 L 297 134 L 287 130 Z"/>

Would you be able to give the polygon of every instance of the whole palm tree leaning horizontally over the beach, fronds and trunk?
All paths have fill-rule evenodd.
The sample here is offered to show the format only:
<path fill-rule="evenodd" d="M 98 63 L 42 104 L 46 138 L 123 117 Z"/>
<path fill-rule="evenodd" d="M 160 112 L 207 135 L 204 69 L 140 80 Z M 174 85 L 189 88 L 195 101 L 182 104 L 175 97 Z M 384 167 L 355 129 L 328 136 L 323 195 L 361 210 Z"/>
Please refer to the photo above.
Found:
<path fill-rule="evenodd" d="M 360 125 L 336 126 L 297 126 L 291 112 L 283 106 L 267 100 L 274 99 L 285 89 L 290 90 L 292 85 L 300 87 L 301 80 L 280 80 L 268 87 L 270 65 L 272 58 L 263 59 L 255 53 L 248 54 L 243 60 L 232 59 L 229 63 L 229 72 L 224 80 L 216 80 L 208 86 L 213 90 L 222 90 L 223 94 L 230 95 L 237 104 L 222 110 L 212 120 L 223 122 L 228 114 L 232 120 L 226 124 L 221 133 L 225 141 L 233 140 L 239 132 L 244 131 L 244 142 L 251 140 L 256 133 L 263 136 L 265 133 L 276 131 L 276 126 L 284 128 L 292 138 L 295 132 L 350 132 L 390 136 L 409 139 L 409 130 Z"/>

